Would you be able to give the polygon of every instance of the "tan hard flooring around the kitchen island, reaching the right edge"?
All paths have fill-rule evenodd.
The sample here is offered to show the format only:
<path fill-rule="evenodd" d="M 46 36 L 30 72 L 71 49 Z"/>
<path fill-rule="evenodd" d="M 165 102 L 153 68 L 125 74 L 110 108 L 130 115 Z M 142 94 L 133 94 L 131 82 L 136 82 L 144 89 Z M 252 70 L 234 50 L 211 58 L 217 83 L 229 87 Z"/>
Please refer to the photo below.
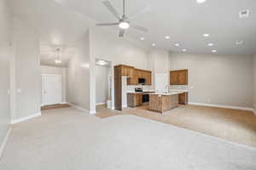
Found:
<path fill-rule="evenodd" d="M 109 111 L 100 106 L 97 108 L 96 116 L 102 118 L 117 114 L 142 116 L 154 121 L 256 147 L 256 116 L 251 111 L 196 105 L 180 105 L 178 108 L 164 114 L 147 111 L 147 109 L 148 106 L 142 106 L 127 108 L 119 112 Z"/>

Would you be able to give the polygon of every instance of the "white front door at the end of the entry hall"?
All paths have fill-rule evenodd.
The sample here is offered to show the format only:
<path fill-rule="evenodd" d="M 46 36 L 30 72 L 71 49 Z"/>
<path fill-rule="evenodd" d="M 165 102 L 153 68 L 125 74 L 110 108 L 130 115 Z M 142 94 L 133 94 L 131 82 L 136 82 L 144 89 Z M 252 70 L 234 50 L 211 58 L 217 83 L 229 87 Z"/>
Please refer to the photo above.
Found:
<path fill-rule="evenodd" d="M 42 75 L 42 105 L 61 104 L 61 75 Z"/>

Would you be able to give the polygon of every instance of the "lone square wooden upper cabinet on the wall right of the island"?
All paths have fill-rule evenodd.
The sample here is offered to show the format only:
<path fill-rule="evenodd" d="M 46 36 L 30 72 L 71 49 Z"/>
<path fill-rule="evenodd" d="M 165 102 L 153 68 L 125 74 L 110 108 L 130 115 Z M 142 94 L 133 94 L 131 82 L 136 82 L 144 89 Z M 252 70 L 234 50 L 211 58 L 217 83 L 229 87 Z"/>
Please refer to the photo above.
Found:
<path fill-rule="evenodd" d="M 188 74 L 189 71 L 187 69 L 179 71 L 170 71 L 170 84 L 188 85 Z"/>

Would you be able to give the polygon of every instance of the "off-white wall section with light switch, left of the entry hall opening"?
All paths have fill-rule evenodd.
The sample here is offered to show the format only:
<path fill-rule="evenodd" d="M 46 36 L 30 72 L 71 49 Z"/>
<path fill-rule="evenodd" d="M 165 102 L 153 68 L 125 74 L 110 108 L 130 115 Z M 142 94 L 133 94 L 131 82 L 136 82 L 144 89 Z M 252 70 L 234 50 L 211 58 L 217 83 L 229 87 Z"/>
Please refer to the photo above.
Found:
<path fill-rule="evenodd" d="M 13 24 L 12 119 L 18 120 L 41 111 L 41 71 L 37 32 L 20 18 L 15 17 Z"/>

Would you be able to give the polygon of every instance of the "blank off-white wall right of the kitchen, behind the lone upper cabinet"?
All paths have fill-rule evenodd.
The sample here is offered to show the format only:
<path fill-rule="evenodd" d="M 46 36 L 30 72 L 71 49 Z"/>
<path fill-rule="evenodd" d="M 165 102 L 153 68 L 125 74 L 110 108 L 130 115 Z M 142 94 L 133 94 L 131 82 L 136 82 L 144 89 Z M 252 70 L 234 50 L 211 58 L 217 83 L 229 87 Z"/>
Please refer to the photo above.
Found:
<path fill-rule="evenodd" d="M 172 70 L 189 69 L 189 102 L 212 105 L 253 107 L 252 62 L 245 55 L 171 54 Z"/>

